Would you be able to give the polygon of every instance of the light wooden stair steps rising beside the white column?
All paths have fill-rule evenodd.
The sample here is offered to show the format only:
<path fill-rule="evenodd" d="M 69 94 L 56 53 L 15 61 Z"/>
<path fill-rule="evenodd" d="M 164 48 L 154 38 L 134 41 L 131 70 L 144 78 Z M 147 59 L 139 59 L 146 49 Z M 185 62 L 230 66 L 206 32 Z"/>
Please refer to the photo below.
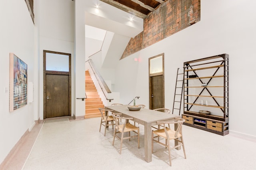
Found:
<path fill-rule="evenodd" d="M 104 107 L 100 95 L 92 81 L 89 71 L 85 71 L 85 116 L 84 118 L 101 117 L 98 108 Z"/>

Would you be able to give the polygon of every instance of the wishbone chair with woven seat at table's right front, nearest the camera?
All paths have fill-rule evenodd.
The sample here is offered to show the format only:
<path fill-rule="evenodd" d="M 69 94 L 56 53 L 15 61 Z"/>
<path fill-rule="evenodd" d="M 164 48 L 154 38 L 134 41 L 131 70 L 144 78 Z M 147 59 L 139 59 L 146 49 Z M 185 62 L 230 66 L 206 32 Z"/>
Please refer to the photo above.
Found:
<path fill-rule="evenodd" d="M 185 146 L 184 146 L 183 137 L 182 137 L 182 123 L 183 122 L 185 122 L 185 119 L 181 119 L 181 118 L 175 118 L 175 120 L 171 121 L 171 122 L 157 122 L 158 124 L 162 124 L 164 126 L 164 128 L 155 130 L 155 131 L 152 130 L 152 153 L 153 153 L 153 146 L 154 146 L 153 142 L 157 142 L 159 144 L 162 144 L 165 147 L 168 147 L 170 166 L 172 166 L 171 149 L 178 148 L 178 147 L 182 146 L 183 152 L 184 152 L 184 157 L 186 159 Z M 177 126 L 176 131 L 172 130 L 170 128 L 170 124 L 174 124 Z M 166 125 L 168 125 L 168 127 L 166 127 Z M 154 136 L 154 135 L 156 135 L 156 136 Z M 165 138 L 165 144 L 154 139 L 154 138 L 158 138 L 158 137 Z M 180 142 L 180 144 L 178 144 L 177 146 L 171 147 L 170 140 L 172 140 L 172 139 L 177 140 L 178 142 Z"/>

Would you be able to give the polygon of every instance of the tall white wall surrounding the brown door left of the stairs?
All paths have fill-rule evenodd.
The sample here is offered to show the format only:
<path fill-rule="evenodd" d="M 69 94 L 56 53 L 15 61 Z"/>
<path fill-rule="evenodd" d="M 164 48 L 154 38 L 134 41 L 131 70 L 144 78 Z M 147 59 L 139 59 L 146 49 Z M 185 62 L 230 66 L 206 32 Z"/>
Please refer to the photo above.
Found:
<path fill-rule="evenodd" d="M 43 50 L 71 53 L 71 109 L 74 114 L 74 2 L 71 0 L 39 1 L 39 102 L 43 119 Z M 84 78 L 84 77 L 83 77 Z"/>

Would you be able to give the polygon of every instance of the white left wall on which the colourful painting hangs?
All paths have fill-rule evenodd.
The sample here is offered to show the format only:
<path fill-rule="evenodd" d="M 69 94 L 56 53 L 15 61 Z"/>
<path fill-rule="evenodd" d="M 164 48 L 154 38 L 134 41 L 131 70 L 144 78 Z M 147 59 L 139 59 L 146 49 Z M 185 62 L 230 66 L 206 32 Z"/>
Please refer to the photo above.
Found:
<path fill-rule="evenodd" d="M 9 112 L 9 53 L 28 64 L 28 82 L 34 82 L 34 24 L 25 1 L 0 2 L 0 162 L 20 137 L 34 125 L 34 104 Z"/>

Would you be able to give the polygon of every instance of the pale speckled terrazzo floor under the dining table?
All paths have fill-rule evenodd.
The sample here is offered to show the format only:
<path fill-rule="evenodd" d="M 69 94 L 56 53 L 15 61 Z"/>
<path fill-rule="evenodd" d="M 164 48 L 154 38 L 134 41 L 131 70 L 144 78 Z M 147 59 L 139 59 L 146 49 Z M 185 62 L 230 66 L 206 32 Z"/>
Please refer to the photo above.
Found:
<path fill-rule="evenodd" d="M 152 162 L 144 160 L 144 127 L 140 127 L 140 148 L 137 138 L 124 140 L 119 154 L 120 140 L 112 146 L 112 127 L 99 132 L 100 118 L 70 121 L 68 118 L 46 120 L 26 160 L 22 153 L 12 157 L 6 170 L 255 170 L 256 142 L 232 134 L 220 136 L 183 125 L 183 150 L 172 150 L 172 166 L 168 151 L 154 143 Z M 138 125 L 138 124 L 136 124 Z M 40 126 L 40 125 L 36 125 Z M 34 127 L 36 128 L 36 127 Z M 26 147 L 24 144 L 22 147 Z M 23 155 L 24 156 L 24 155 Z M 14 166 L 20 162 L 22 167 Z"/>

